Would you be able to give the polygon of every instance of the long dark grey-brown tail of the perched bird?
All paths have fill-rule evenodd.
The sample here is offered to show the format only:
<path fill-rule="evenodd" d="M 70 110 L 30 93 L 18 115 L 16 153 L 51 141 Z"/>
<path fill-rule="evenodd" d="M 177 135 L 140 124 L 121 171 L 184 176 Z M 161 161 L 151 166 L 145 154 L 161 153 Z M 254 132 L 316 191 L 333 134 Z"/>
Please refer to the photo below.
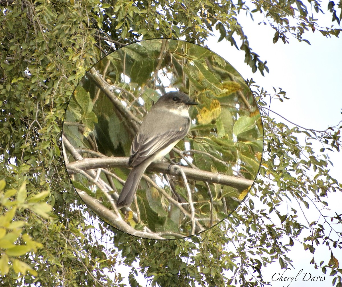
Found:
<path fill-rule="evenodd" d="M 149 163 L 150 162 L 142 162 L 130 171 L 117 201 L 118 209 L 121 209 L 122 207 L 128 207 L 132 204 L 134 194 L 140 183 L 140 179 Z"/>

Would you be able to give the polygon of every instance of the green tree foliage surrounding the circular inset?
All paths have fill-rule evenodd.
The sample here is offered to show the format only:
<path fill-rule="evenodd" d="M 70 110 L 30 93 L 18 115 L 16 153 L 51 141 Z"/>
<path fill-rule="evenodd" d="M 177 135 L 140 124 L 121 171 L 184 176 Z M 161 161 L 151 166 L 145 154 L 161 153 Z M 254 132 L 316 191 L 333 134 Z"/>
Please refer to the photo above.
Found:
<path fill-rule="evenodd" d="M 340 287 L 342 271 L 334 252 L 341 248 L 341 235 L 331 223 L 341 224 L 341 217 L 324 209 L 330 192 L 341 191 L 329 176 L 330 161 L 324 154 L 324 149 L 339 152 L 338 126 L 321 132 L 289 128 L 264 113 L 264 158 L 251 197 L 223 224 L 173 241 L 134 238 L 111 233 L 106 224 L 89 223 L 95 217 L 73 192 L 61 153 L 70 96 L 85 72 L 113 49 L 160 37 L 205 44 L 217 29 L 219 40 L 244 51 L 252 71 L 263 73 L 266 60 L 252 51 L 239 17 L 263 13 L 265 24 L 275 29 L 273 42 L 287 43 L 290 35 L 304 41 L 303 35 L 315 30 L 338 36 L 341 29 L 321 28 L 315 18 L 324 10 L 331 13 L 332 24 L 339 23 L 341 2 L 330 1 L 327 11 L 319 1 L 309 3 L 313 11 L 301 1 L 255 1 L 250 8 L 242 1 L 211 0 L 1 0 L 1 285 L 115 286 L 122 279 L 115 262 L 139 260 L 139 272 L 153 285 L 257 286 L 265 283 L 262 272 L 268 263 L 278 261 L 282 268 L 290 263 L 287 252 L 298 240 L 312 254 L 310 263 L 330 273 Z M 263 107 L 269 93 L 252 81 L 248 84 Z M 284 99 L 284 91 L 274 96 Z M 297 136 L 303 133 L 300 143 Z M 319 153 L 311 148 L 316 140 L 323 145 Z M 285 199 L 298 202 L 301 209 L 317 206 L 321 216 L 300 222 L 294 204 L 281 209 Z M 265 208 L 255 207 L 257 201 Z M 49 217 L 46 203 L 51 206 Z M 270 213 L 278 222 L 269 219 Z M 311 235 L 303 239 L 304 228 Z M 100 235 L 107 235 L 113 245 L 105 248 Z M 331 252 L 329 262 L 316 258 L 318 245 Z M 128 276 L 132 286 L 139 286 L 137 272 L 132 269 Z"/>

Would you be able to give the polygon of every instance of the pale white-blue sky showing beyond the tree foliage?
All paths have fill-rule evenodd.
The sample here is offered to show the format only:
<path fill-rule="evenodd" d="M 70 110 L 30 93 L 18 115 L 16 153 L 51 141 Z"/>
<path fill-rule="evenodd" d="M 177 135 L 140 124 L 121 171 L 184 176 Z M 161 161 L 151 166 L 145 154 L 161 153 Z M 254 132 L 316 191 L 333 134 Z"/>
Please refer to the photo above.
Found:
<path fill-rule="evenodd" d="M 322 4 L 323 10 L 326 9 L 327 3 L 325 1 Z M 244 63 L 244 52 L 238 51 L 225 40 L 218 43 L 219 35 L 209 37 L 206 45 L 211 51 L 228 61 L 245 80 L 253 78 L 258 85 L 269 92 L 273 91 L 272 87 L 281 87 L 285 90 L 287 92 L 286 96 L 290 99 L 285 100 L 283 103 L 273 99 L 270 103 L 271 110 L 305 128 L 324 130 L 329 126 L 338 124 L 342 120 L 342 92 L 340 89 L 342 83 L 340 72 L 342 67 L 341 39 L 334 36 L 332 36 L 333 38 L 325 38 L 319 31 L 316 30 L 313 33 L 310 30 L 304 33 L 303 38 L 310 41 L 311 45 L 299 42 L 295 38 L 288 39 L 289 44 L 283 44 L 280 40 L 273 44 L 274 30 L 268 25 L 261 24 L 258 26 L 257 23 L 263 20 L 262 15 L 254 13 L 253 16 L 254 22 L 249 17 L 239 17 L 239 23 L 248 36 L 249 45 L 253 52 L 257 53 L 261 60 L 267 60 L 269 74 L 265 72 L 265 76 L 262 76 L 259 71 L 253 74 L 251 68 Z M 320 14 L 319 16 L 323 23 L 331 24 L 329 14 L 324 16 Z M 334 26 L 335 28 L 341 28 L 336 22 Z M 267 101 L 267 99 L 265 100 Z M 276 114 L 270 113 L 270 116 L 277 121 L 292 126 Z M 319 152 L 321 146 L 316 144 L 313 145 L 313 148 Z M 330 153 L 329 156 L 334 164 L 334 167 L 330 167 L 330 175 L 342 182 L 342 154 Z M 327 202 L 331 212 L 342 213 L 341 199 L 341 194 L 329 195 Z M 312 218 L 312 221 L 317 217 L 317 213 L 311 209 L 305 211 L 305 215 Z M 303 237 L 304 235 L 301 235 L 301 238 Z M 321 247 L 323 248 L 319 248 L 319 250 L 317 248 L 316 253 L 323 256 L 325 263 L 327 263 L 330 259 L 330 252 L 324 246 Z M 342 261 L 342 253 L 340 252 L 339 255 L 338 259 Z M 298 276 L 299 280 L 276 280 L 284 270 L 281 270 L 279 263 L 275 262 L 271 266 L 267 266 L 263 273 L 264 279 L 271 282 L 272 286 L 331 286 L 332 277 L 329 276 L 330 271 L 323 275 L 320 269 L 315 270 L 313 265 L 309 263 L 311 260 L 310 253 L 305 252 L 302 245 L 295 244 L 292 251 L 288 253 L 288 257 L 293 260 L 294 268 L 290 267 L 291 270 L 286 270 L 283 276 L 295 277 L 300 270 L 303 270 Z M 139 267 L 138 264 L 135 266 Z M 131 268 L 126 268 L 123 265 L 118 268 L 118 271 L 123 274 L 126 273 L 125 270 L 128 273 Z M 307 274 L 305 275 L 305 273 Z M 302 281 L 304 275 L 306 276 L 304 279 L 310 277 L 309 273 L 311 278 L 313 276 L 325 276 L 324 281 Z M 322 278 L 320 277 L 320 279 Z M 139 276 L 138 281 L 143 286 L 149 286 L 143 276 Z M 128 283 L 128 280 L 125 278 L 124 282 Z"/>

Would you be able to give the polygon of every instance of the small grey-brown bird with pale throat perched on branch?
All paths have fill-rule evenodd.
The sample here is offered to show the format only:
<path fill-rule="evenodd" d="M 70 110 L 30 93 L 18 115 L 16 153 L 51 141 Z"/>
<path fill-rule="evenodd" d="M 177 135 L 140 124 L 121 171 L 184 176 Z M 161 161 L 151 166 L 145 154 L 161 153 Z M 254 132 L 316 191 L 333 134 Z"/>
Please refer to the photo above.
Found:
<path fill-rule="evenodd" d="M 145 115 L 131 146 L 132 167 L 117 200 L 117 207 L 129 207 L 146 168 L 185 137 L 191 125 L 189 108 L 197 105 L 181 91 L 162 95 Z"/>

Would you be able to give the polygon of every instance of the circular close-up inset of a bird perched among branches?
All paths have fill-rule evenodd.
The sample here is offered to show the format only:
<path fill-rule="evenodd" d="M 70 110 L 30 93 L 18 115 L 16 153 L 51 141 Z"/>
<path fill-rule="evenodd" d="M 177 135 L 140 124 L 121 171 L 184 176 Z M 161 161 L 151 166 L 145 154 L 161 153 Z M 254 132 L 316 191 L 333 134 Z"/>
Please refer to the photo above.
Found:
<path fill-rule="evenodd" d="M 258 106 L 223 58 L 145 40 L 103 58 L 68 104 L 63 154 L 89 209 L 151 239 L 213 227 L 246 197 L 263 147 Z"/>

